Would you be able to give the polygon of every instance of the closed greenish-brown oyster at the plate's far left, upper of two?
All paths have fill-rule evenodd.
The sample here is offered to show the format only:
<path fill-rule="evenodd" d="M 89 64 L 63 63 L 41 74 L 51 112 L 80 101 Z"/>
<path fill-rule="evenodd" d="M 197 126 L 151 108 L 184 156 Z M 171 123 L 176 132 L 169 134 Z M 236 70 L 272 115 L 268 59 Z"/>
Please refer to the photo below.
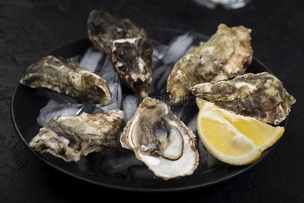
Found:
<path fill-rule="evenodd" d="M 104 79 L 81 68 L 72 59 L 52 55 L 30 65 L 20 83 L 32 88 L 47 87 L 89 103 L 108 104 L 111 100 L 111 92 Z"/>

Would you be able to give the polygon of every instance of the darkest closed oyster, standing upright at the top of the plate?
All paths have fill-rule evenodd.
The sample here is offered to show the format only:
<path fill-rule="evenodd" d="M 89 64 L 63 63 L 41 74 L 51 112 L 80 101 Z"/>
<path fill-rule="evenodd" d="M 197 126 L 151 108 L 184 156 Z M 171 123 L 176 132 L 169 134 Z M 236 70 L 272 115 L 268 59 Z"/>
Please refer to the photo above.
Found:
<path fill-rule="evenodd" d="M 109 55 L 126 85 L 140 96 L 148 96 L 153 48 L 143 28 L 129 19 L 93 10 L 88 17 L 88 35 L 94 46 Z"/>

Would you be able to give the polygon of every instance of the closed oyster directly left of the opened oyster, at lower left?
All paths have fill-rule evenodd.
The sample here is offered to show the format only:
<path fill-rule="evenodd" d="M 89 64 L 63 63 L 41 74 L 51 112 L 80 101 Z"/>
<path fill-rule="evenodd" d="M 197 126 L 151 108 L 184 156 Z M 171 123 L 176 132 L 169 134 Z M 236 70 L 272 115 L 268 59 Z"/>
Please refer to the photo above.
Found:
<path fill-rule="evenodd" d="M 79 116 L 63 114 L 40 128 L 29 146 L 65 161 L 78 161 L 88 153 L 115 146 L 122 121 L 121 110 Z"/>

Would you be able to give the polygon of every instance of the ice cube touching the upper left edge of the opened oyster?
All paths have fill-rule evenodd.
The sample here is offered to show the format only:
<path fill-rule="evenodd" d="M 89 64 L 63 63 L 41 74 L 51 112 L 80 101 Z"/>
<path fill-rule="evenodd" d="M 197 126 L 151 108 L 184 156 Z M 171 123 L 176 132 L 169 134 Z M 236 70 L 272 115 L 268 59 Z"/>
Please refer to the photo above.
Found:
<path fill-rule="evenodd" d="M 127 95 L 123 100 L 123 121 L 128 122 L 136 113 L 139 98 L 136 94 Z"/>

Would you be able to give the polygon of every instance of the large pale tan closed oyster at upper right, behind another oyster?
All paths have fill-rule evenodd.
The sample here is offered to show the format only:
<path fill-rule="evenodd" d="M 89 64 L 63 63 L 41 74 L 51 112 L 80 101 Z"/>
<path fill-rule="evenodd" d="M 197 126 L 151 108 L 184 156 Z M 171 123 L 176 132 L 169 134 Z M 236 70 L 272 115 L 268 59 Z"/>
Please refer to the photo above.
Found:
<path fill-rule="evenodd" d="M 207 42 L 193 47 L 173 67 L 167 80 L 167 92 L 174 103 L 189 96 L 192 86 L 233 78 L 244 74 L 252 61 L 251 29 L 220 24 Z"/>

